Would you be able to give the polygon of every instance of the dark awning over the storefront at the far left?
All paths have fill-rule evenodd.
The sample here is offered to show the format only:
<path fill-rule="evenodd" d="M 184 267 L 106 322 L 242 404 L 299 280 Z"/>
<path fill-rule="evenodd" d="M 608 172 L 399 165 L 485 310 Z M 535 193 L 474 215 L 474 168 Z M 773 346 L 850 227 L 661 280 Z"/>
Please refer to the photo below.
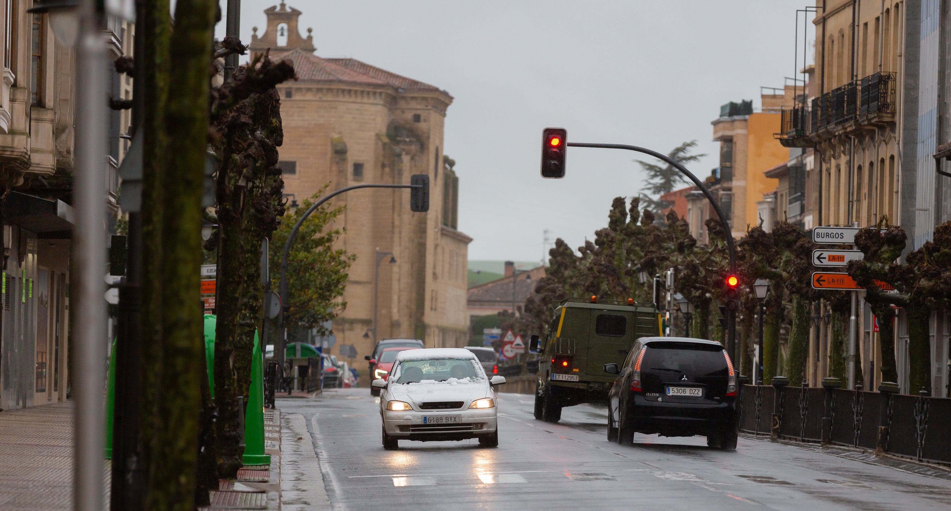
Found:
<path fill-rule="evenodd" d="M 3 221 L 21 226 L 43 239 L 69 239 L 75 223 L 75 210 L 60 200 L 50 201 L 18 191 L 3 199 Z"/>

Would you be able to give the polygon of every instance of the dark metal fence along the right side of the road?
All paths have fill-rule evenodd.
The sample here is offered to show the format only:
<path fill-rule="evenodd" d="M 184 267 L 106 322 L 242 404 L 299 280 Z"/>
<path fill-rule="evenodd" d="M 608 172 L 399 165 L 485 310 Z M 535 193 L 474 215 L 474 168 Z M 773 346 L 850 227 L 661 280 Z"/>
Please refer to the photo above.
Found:
<path fill-rule="evenodd" d="M 951 399 L 835 386 L 743 385 L 740 429 L 951 462 Z M 887 390 L 887 389 L 886 389 Z"/>

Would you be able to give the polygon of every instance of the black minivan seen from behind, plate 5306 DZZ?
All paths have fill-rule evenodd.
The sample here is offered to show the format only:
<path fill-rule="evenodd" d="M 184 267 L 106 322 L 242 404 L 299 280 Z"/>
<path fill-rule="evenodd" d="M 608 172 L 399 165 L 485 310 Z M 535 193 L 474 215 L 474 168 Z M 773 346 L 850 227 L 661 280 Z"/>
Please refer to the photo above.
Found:
<path fill-rule="evenodd" d="M 737 379 L 723 344 L 682 337 L 642 337 L 609 393 L 608 440 L 633 442 L 634 432 L 707 437 L 710 447 L 736 449 Z"/>

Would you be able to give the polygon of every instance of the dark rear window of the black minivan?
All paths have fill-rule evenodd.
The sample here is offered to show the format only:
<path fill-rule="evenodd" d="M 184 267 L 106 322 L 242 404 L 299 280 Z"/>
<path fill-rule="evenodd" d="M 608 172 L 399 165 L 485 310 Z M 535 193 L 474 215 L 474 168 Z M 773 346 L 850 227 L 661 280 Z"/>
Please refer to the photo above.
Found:
<path fill-rule="evenodd" d="M 723 346 L 699 343 L 650 343 L 642 370 L 693 376 L 725 376 L 728 372 Z"/>

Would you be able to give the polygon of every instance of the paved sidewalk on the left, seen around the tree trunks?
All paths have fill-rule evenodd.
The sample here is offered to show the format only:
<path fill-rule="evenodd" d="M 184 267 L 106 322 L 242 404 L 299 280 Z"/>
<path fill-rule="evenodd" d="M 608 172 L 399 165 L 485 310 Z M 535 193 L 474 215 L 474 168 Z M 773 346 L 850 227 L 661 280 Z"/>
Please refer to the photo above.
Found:
<path fill-rule="evenodd" d="M 0 412 L 0 511 L 72 509 L 72 424 L 71 402 Z M 264 411 L 264 441 L 271 464 L 243 467 L 201 509 L 281 509 L 281 410 Z M 110 471 L 106 460 L 107 506 Z"/>

